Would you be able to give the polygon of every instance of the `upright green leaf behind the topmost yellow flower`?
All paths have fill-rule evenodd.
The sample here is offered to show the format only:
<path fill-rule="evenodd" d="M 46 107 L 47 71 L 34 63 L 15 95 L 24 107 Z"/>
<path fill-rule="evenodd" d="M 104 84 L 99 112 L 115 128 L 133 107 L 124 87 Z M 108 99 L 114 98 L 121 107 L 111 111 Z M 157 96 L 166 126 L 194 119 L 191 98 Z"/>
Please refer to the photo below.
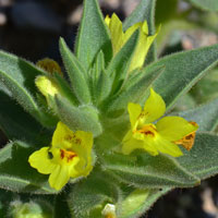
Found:
<path fill-rule="evenodd" d="M 149 35 L 155 34 L 155 5 L 156 0 L 142 0 L 132 14 L 123 23 L 123 31 L 138 22 L 147 21 Z M 146 57 L 146 63 L 157 60 L 156 46 L 153 45 Z"/>

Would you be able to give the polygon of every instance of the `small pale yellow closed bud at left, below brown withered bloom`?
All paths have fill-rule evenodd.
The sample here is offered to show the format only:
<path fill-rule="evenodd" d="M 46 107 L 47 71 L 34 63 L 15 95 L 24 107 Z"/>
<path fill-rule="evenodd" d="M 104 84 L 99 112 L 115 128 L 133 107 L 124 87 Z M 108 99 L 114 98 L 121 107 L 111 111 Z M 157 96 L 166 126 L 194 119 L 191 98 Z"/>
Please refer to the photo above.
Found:
<path fill-rule="evenodd" d="M 40 75 L 36 77 L 35 84 L 47 99 L 49 95 L 53 97 L 59 93 L 57 85 L 47 76 Z"/>

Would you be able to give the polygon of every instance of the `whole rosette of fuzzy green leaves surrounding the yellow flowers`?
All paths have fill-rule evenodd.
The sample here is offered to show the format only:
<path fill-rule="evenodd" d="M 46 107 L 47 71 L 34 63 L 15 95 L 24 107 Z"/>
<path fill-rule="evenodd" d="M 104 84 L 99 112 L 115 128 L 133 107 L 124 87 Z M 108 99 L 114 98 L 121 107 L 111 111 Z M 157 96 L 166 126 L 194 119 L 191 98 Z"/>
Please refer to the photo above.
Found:
<path fill-rule="evenodd" d="M 154 35 L 155 2 L 142 0 L 123 29 L 146 20 Z M 130 128 L 130 101 L 143 105 L 153 87 L 170 113 L 177 100 L 218 62 L 218 45 L 159 60 L 153 45 L 144 68 L 130 73 L 137 43 L 138 31 L 113 57 L 97 0 L 85 0 L 75 51 L 60 39 L 66 75 L 49 75 L 60 90 L 50 99 L 50 107 L 35 86 L 35 78 L 48 73 L 0 51 L 0 126 L 10 140 L 0 149 L 0 187 L 11 191 L 11 199 L 17 193 L 32 198 L 47 195 L 55 217 L 109 217 L 104 211 L 113 205 L 113 217 L 134 218 L 170 190 L 198 185 L 218 172 L 218 136 L 213 133 L 218 124 L 217 98 L 179 113 L 199 125 L 194 147 L 183 150 L 182 157 L 117 153 Z M 72 131 L 92 132 L 96 157 L 92 173 L 70 181 L 61 193 L 49 186 L 48 175 L 38 173 L 27 161 L 33 152 L 49 145 L 58 121 Z"/>

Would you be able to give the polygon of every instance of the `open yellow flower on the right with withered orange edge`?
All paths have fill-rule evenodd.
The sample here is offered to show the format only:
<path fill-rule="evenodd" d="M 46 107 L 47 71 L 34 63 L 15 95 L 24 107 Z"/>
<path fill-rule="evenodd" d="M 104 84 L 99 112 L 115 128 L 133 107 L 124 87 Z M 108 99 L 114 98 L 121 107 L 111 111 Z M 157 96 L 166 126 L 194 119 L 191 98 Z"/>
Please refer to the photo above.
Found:
<path fill-rule="evenodd" d="M 144 109 L 137 104 L 130 102 L 128 110 L 131 130 L 122 142 L 123 154 L 129 155 L 141 148 L 154 156 L 160 152 L 179 157 L 183 154 L 178 144 L 187 150 L 192 148 L 198 125 L 180 117 L 164 117 L 158 120 L 165 114 L 166 105 L 154 89 L 150 88 Z M 158 121 L 154 124 L 156 120 Z"/>

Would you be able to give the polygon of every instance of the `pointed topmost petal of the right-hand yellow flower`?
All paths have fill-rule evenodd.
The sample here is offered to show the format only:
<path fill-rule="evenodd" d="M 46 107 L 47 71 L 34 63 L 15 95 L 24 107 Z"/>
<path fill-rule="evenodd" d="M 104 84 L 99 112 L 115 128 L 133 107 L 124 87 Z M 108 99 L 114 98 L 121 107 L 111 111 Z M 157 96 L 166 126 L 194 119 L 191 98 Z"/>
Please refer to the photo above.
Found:
<path fill-rule="evenodd" d="M 150 88 L 150 95 L 144 106 L 144 123 L 150 123 L 165 114 L 166 105 L 160 95 Z"/>

